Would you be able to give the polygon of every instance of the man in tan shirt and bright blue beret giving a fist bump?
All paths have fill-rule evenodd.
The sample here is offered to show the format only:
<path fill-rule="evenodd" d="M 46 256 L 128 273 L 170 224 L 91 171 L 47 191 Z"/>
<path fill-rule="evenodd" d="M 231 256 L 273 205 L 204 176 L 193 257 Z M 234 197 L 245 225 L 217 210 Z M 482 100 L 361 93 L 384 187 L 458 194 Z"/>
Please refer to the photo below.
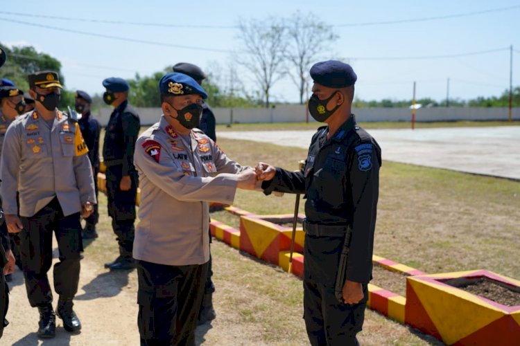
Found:
<path fill-rule="evenodd" d="M 196 128 L 207 94 L 193 78 L 168 73 L 159 91 L 163 115 L 139 136 L 134 156 L 137 322 L 141 345 L 194 345 L 209 261 L 208 202 L 232 204 L 236 189 L 253 190 L 257 177 Z"/>

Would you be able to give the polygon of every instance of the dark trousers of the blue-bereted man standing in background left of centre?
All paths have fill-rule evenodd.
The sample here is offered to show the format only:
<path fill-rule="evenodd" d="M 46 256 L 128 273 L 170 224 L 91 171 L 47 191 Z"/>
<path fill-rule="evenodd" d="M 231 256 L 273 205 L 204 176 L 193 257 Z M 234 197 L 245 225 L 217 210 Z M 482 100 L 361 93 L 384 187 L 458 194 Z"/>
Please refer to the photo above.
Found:
<path fill-rule="evenodd" d="M 112 229 L 116 234 L 121 256 L 130 259 L 135 237 L 135 199 L 137 197 L 137 174 L 131 174 L 132 187 L 121 191 L 121 165 L 107 167 L 108 215 L 112 217 Z"/>

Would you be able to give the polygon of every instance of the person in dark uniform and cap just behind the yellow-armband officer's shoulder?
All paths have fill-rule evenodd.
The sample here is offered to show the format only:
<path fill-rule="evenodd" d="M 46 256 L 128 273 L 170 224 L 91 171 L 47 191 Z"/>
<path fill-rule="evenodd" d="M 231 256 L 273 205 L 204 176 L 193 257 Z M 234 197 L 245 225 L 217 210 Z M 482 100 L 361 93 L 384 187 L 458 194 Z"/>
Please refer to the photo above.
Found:
<path fill-rule="evenodd" d="M 74 105 L 76 111 L 81 113 L 78 120 L 81 134 L 87 147 L 89 148 L 89 160 L 92 164 L 92 172 L 94 173 L 94 187 L 96 188 L 96 199 L 98 198 L 98 173 L 99 173 L 99 134 L 101 133 L 101 125 L 98 120 L 94 119 L 90 113 L 90 105 L 92 98 L 85 91 L 76 91 L 76 103 Z M 94 239 L 98 237 L 96 232 L 96 224 L 98 223 L 98 205 L 94 204 L 94 212 L 85 219 L 85 228 L 81 233 L 83 239 Z"/>

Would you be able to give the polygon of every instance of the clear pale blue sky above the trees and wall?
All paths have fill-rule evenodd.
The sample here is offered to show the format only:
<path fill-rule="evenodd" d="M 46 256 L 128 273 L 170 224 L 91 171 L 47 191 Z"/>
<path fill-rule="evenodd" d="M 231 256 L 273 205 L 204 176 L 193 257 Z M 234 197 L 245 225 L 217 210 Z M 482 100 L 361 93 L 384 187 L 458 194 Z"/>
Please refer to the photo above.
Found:
<path fill-rule="evenodd" d="M 44 6 L 43 6 L 44 4 Z M 508 10 L 499 10 L 508 8 Z M 333 26 L 339 39 L 324 57 L 340 57 L 358 74 L 356 95 L 363 100 L 411 98 L 413 81 L 417 98 L 444 100 L 450 78 L 450 98 L 469 99 L 500 95 L 509 88 L 510 51 L 513 86 L 520 85 L 520 3 L 518 1 L 3 1 L 0 8 L 0 42 L 30 44 L 62 62 L 68 89 L 102 92 L 101 81 L 110 76 L 132 78 L 149 75 L 176 62 L 193 62 L 220 75 L 225 83 L 232 53 L 241 44 L 233 28 L 239 19 L 288 17 L 295 11 L 312 13 Z M 491 10 L 495 10 L 492 11 Z M 480 14 L 475 12 L 489 11 Z M 10 13 L 8 13 L 10 12 Z M 24 17 L 14 13 L 64 17 Z M 428 19 L 447 17 L 444 19 Z M 455 17 L 456 16 L 456 17 Z M 8 19 L 10 21 L 6 21 Z M 123 21 L 106 24 L 92 19 Z M 417 21 L 410 21 L 417 19 Z M 128 37 L 150 45 L 91 37 L 26 23 L 76 30 L 98 35 Z M 384 24 L 386 21 L 404 21 Z M 179 27 L 135 26 L 128 23 L 175 24 Z M 374 23 L 373 25 L 361 25 Z M 349 24 L 348 26 L 342 26 Z M 353 25 L 356 24 L 356 25 Z M 178 46 L 194 46 L 202 51 Z M 223 51 L 223 52 L 220 52 Z M 479 53 L 451 58 L 445 55 Z M 396 57 L 428 57 L 420 60 Z M 392 59 L 390 59 L 392 58 Z M 239 78 L 248 90 L 252 76 L 240 66 Z M 290 78 L 275 84 L 272 97 L 295 102 L 298 91 Z"/>

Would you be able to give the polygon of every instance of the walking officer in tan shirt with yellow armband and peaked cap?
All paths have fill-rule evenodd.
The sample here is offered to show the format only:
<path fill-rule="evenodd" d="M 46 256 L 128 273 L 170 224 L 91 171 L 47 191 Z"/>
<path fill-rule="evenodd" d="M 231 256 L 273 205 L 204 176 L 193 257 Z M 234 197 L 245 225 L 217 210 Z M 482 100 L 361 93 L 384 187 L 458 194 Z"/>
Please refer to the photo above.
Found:
<path fill-rule="evenodd" d="M 19 116 L 6 132 L 0 194 L 8 230 L 20 235 L 28 299 L 40 311 L 38 336 L 52 338 L 55 314 L 47 271 L 53 233 L 60 250 L 53 268 L 54 289 L 60 295 L 56 311 L 64 329 L 78 331 L 81 323 L 72 300 L 80 275 L 80 213 L 89 215 L 96 195 L 79 125 L 57 108 L 62 88 L 58 73 L 40 71 L 28 79 L 36 109 Z"/>

